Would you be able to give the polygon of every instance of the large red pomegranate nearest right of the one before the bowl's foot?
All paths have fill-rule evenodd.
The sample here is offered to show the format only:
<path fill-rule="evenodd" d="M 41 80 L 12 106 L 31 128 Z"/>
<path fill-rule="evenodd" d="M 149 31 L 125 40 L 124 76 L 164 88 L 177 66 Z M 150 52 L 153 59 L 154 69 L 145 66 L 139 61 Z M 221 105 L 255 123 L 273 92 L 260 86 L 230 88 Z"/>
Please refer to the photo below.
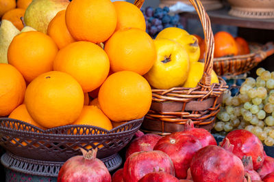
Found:
<path fill-rule="evenodd" d="M 175 175 L 173 162 L 169 155 L 162 151 L 141 151 L 129 155 L 125 160 L 123 180 L 137 182 L 142 177 L 159 169 L 170 175 Z"/>

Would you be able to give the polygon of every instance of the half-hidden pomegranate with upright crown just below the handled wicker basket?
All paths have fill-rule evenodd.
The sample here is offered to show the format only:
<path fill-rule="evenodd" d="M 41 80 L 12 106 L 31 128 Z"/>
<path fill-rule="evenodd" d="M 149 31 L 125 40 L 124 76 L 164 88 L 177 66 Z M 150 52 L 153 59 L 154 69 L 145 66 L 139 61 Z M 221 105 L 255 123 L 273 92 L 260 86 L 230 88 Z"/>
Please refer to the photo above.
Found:
<path fill-rule="evenodd" d="M 212 134 L 210 134 L 208 130 L 194 127 L 194 124 L 190 119 L 184 125 L 184 133 L 196 136 L 203 147 L 206 147 L 208 145 L 217 145 L 214 136 L 212 136 Z"/>

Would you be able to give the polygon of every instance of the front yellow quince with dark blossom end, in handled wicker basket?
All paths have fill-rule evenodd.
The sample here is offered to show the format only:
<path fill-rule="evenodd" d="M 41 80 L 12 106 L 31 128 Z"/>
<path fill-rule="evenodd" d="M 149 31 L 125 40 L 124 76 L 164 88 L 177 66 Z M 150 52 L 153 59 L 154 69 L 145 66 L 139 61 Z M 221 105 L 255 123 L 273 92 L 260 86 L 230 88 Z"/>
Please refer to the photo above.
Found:
<path fill-rule="evenodd" d="M 189 59 L 185 48 L 168 39 L 154 40 L 157 60 L 145 78 L 156 89 L 182 86 L 188 76 Z"/>

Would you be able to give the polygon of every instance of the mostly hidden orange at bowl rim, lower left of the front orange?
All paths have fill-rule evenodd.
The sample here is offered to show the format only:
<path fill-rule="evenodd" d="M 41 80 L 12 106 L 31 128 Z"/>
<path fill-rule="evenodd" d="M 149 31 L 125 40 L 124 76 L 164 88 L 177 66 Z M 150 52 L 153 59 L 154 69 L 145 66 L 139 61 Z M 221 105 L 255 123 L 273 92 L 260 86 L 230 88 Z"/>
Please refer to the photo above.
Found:
<path fill-rule="evenodd" d="M 12 111 L 12 113 L 10 113 L 9 118 L 24 121 L 24 122 L 34 125 L 36 127 L 40 127 L 42 130 L 46 130 L 45 127 L 42 127 L 41 125 L 36 123 L 36 121 L 34 121 L 34 119 L 32 119 L 32 117 L 29 115 L 29 112 L 27 112 L 27 108 L 26 108 L 25 104 L 21 104 L 20 106 L 15 108 Z"/>

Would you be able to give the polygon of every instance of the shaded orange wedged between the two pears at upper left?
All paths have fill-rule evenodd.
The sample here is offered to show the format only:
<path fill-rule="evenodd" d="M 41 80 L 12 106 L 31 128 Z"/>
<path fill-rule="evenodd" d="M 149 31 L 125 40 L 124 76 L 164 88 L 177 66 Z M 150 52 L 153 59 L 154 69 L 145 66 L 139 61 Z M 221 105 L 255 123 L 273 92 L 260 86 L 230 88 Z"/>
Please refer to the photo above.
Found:
<path fill-rule="evenodd" d="M 2 20 L 3 19 L 9 20 L 10 22 L 13 23 L 13 25 L 19 31 L 21 31 L 21 29 L 23 29 L 23 27 L 24 27 L 21 17 L 23 17 L 24 14 L 25 14 L 25 9 L 16 8 L 16 9 L 10 10 L 8 12 L 5 12 L 5 14 L 2 17 Z"/>

